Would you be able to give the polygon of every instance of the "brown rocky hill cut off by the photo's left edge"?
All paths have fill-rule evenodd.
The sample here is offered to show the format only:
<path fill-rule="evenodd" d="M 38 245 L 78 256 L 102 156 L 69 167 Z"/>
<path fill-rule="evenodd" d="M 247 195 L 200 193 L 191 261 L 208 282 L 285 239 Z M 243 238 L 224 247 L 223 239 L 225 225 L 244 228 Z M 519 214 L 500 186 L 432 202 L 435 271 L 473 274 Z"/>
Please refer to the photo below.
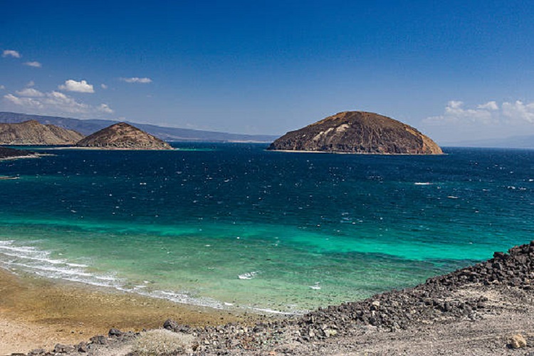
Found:
<path fill-rule="evenodd" d="M 0 123 L 0 145 L 73 145 L 82 138 L 79 132 L 36 120 Z"/>

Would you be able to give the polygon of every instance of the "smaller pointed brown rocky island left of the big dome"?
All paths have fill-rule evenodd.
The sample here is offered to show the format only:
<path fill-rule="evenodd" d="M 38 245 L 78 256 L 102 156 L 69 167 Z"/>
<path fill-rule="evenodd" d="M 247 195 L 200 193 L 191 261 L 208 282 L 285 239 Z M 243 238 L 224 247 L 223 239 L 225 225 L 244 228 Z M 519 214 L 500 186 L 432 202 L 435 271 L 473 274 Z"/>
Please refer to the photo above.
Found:
<path fill-rule="evenodd" d="M 172 150 L 167 142 L 126 122 L 105 127 L 80 140 L 76 146 L 108 150 Z"/>

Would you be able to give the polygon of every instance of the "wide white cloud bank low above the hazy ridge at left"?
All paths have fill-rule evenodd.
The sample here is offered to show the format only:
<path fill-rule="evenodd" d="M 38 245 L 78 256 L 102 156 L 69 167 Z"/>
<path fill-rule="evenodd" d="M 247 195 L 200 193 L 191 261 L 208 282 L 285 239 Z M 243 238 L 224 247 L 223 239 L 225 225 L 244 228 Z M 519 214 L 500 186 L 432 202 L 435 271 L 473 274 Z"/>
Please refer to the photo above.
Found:
<path fill-rule="evenodd" d="M 100 116 L 113 112 L 107 104 L 100 104 L 95 107 L 80 103 L 74 98 L 55 90 L 48 93 L 41 93 L 38 90 L 26 88 L 17 91 L 16 94 L 9 93 L 4 95 L 4 100 L 8 103 L 21 106 L 24 110 L 38 111 L 38 113 L 43 115 L 78 114 Z"/>

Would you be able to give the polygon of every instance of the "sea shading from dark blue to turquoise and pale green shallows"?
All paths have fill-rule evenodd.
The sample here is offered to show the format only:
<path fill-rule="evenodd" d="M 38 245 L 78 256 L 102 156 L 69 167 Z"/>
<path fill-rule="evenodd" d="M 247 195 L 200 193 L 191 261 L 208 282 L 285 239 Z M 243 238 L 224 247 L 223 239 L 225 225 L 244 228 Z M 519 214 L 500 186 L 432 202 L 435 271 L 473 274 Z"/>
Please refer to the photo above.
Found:
<path fill-rule="evenodd" d="M 305 313 L 533 239 L 534 150 L 68 150 L 0 162 L 0 267 L 177 303 Z"/>

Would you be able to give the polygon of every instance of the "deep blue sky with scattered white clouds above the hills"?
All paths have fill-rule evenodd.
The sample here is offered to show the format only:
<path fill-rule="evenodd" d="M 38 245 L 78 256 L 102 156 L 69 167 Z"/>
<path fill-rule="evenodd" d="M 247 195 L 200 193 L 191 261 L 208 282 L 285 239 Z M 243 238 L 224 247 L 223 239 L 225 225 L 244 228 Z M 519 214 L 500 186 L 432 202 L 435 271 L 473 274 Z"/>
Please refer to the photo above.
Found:
<path fill-rule="evenodd" d="M 530 1 L 0 1 L 0 110 L 283 134 L 345 110 L 534 135 Z"/>

